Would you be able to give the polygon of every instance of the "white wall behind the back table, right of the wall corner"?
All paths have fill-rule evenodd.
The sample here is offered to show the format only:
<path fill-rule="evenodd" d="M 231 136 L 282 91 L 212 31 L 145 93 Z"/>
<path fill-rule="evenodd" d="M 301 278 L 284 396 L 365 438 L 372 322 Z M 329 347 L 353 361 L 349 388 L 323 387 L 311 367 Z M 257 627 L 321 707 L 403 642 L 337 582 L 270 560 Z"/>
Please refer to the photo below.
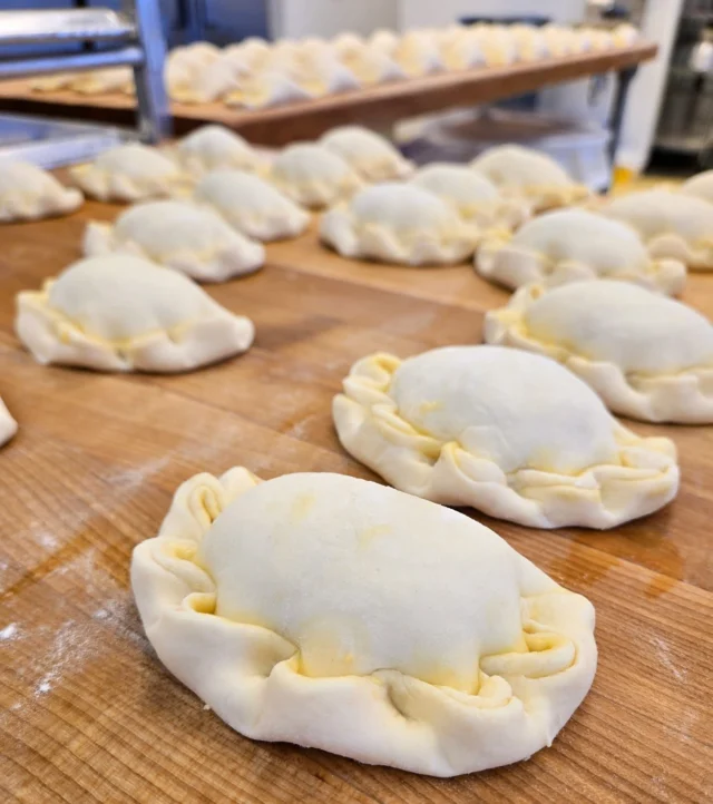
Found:
<path fill-rule="evenodd" d="M 478 14 L 539 14 L 558 22 L 578 22 L 585 7 L 586 0 L 400 0 L 399 27 L 446 26 L 461 17 Z"/>

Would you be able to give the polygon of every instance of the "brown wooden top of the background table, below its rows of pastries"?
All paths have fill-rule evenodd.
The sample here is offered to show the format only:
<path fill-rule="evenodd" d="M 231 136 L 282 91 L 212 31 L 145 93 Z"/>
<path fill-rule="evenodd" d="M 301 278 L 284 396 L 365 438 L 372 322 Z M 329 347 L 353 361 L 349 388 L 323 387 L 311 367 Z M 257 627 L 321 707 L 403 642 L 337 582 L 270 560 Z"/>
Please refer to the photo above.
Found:
<path fill-rule="evenodd" d="M 185 134 L 203 122 L 213 121 L 240 130 L 254 143 L 284 145 L 295 139 L 316 137 L 334 126 L 355 120 L 384 125 L 438 109 L 507 98 L 548 84 L 621 70 L 653 59 L 655 55 L 656 46 L 643 42 L 606 52 L 579 53 L 508 67 L 455 70 L 256 111 L 231 109 L 222 102 L 173 102 L 172 114 L 176 134 Z M 6 111 L 74 116 L 128 125 L 134 107 L 134 98 L 120 94 L 33 92 L 28 81 L 0 81 L 0 109 Z"/>

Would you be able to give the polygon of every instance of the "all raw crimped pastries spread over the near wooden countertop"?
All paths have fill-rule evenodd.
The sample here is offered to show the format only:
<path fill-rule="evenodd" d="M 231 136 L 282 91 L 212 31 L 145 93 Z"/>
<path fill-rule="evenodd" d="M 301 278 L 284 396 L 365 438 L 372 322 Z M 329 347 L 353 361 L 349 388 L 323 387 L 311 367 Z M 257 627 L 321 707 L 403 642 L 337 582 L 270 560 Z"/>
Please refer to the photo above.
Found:
<path fill-rule="evenodd" d="M 62 214 L 77 194 L 33 173 L 22 207 L 2 175 L 6 218 Z M 208 127 L 71 177 L 133 206 L 19 294 L 17 334 L 40 363 L 188 371 L 244 352 L 252 322 L 194 280 L 253 273 L 262 243 L 314 212 L 348 258 L 472 258 L 516 291 L 484 345 L 378 352 L 344 378 L 339 440 L 393 488 L 202 473 L 136 547 L 131 586 L 162 661 L 248 737 L 439 776 L 549 745 L 594 678 L 594 609 L 448 506 L 603 529 L 675 498 L 674 443 L 612 412 L 713 421 L 713 327 L 670 297 L 686 268 L 713 268 L 711 175 L 600 199 L 516 146 L 417 169 L 354 127 L 272 155 Z"/>

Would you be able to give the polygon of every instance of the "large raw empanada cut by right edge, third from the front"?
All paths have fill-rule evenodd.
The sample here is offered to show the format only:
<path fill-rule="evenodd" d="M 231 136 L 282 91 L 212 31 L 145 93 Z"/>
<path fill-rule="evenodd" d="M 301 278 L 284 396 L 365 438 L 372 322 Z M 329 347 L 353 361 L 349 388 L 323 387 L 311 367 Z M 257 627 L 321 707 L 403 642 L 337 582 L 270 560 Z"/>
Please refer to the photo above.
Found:
<path fill-rule="evenodd" d="M 619 282 L 518 291 L 486 316 L 486 341 L 563 363 L 615 413 L 713 422 L 713 326 L 680 302 Z"/>

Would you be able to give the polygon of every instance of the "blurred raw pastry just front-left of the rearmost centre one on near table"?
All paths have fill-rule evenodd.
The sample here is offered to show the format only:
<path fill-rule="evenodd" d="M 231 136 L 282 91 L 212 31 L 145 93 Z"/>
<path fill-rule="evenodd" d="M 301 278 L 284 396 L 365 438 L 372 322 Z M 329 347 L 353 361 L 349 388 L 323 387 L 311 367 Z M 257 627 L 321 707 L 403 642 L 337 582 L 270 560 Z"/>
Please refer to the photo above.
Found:
<path fill-rule="evenodd" d="M 296 143 L 280 151 L 270 179 L 292 200 L 311 209 L 331 206 L 363 185 L 348 161 L 316 143 Z"/>

